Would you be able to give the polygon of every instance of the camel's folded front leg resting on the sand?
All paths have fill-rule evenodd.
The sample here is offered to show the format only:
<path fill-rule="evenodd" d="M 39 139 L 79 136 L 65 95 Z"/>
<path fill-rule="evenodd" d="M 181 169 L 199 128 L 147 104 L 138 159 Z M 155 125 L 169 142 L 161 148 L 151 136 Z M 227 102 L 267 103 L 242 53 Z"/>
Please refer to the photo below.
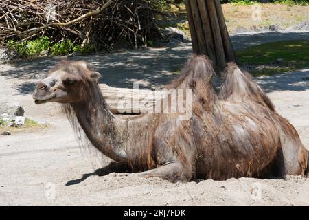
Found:
<path fill-rule="evenodd" d="M 137 177 L 159 177 L 169 181 L 190 181 L 192 171 L 184 168 L 183 164 L 177 161 L 168 162 L 145 172 L 137 173 Z"/>

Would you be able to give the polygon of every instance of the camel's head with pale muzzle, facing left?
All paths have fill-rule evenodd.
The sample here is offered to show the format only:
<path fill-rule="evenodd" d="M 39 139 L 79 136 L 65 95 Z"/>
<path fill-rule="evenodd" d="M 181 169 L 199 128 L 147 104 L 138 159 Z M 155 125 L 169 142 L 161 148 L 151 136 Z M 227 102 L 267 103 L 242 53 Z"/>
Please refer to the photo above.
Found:
<path fill-rule="evenodd" d="M 98 83 L 100 77 L 87 61 L 61 61 L 36 85 L 33 98 L 36 104 L 80 102 L 87 98 L 84 88 L 90 83 Z"/>

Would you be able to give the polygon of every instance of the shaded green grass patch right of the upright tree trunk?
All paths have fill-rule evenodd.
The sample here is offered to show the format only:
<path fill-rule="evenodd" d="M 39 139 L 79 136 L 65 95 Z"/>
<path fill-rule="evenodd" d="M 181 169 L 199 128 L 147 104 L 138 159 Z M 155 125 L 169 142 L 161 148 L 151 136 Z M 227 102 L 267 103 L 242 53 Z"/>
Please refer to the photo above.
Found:
<path fill-rule="evenodd" d="M 240 65 L 253 67 L 253 76 L 293 72 L 309 67 L 309 40 L 255 45 L 237 51 L 236 56 Z"/>

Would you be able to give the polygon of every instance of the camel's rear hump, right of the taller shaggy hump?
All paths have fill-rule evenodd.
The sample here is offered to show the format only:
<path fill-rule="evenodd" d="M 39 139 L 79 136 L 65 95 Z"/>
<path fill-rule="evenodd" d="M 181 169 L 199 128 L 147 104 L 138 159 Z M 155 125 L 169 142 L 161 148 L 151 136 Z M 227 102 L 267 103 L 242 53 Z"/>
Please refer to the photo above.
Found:
<path fill-rule="evenodd" d="M 220 89 L 221 100 L 258 102 L 275 111 L 273 102 L 264 93 L 263 89 L 253 81 L 251 74 L 242 72 L 236 63 L 229 63 L 225 69 L 225 83 Z"/>

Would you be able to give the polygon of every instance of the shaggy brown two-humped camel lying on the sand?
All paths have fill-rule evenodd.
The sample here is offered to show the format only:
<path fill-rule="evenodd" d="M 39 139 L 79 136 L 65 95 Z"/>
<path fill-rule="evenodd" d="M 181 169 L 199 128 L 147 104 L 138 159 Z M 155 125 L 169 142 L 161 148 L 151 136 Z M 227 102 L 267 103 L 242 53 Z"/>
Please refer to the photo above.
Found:
<path fill-rule="evenodd" d="M 235 63 L 216 94 L 207 56 L 192 55 L 165 88 L 192 90 L 192 115 L 113 115 L 87 61 L 61 61 L 36 86 L 36 104 L 58 102 L 91 144 L 138 177 L 170 181 L 308 175 L 308 151 L 297 131 Z"/>

